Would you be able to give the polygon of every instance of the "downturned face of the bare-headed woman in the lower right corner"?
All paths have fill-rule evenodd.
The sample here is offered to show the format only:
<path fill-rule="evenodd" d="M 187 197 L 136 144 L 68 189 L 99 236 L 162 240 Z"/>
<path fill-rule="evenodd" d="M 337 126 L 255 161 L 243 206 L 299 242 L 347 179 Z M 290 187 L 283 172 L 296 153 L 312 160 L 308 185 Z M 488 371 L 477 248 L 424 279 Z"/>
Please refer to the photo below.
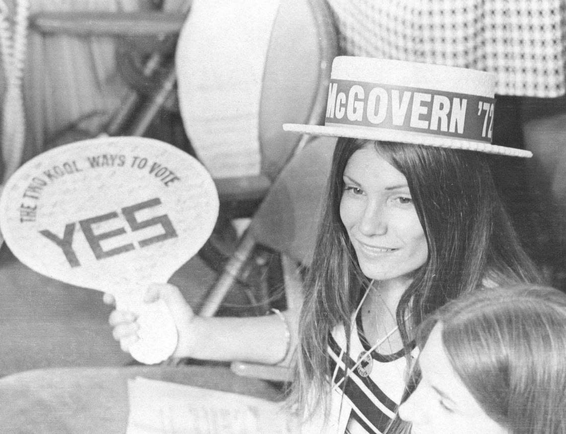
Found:
<path fill-rule="evenodd" d="M 505 434 L 454 372 L 442 343 L 442 324 L 436 324 L 419 355 L 421 382 L 399 407 L 399 416 L 412 422 L 413 434 Z"/>

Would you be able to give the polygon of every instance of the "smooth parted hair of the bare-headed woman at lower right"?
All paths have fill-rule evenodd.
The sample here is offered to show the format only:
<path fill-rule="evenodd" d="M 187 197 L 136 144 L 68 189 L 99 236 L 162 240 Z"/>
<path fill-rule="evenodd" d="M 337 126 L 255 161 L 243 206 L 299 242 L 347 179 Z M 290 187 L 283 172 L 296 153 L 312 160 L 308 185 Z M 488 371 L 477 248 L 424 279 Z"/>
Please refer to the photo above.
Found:
<path fill-rule="evenodd" d="M 566 432 L 566 295 L 519 285 L 445 305 L 419 327 L 419 347 L 442 324 L 445 353 L 483 411 L 513 434 Z"/>

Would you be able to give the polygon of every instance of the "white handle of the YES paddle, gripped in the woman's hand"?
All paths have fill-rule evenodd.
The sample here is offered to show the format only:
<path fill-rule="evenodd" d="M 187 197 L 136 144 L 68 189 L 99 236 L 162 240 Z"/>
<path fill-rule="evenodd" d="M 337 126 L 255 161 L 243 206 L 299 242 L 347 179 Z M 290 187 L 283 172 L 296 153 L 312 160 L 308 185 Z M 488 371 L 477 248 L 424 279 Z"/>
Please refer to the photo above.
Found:
<path fill-rule="evenodd" d="M 155 364 L 173 355 L 177 348 L 177 327 L 163 300 L 144 303 L 117 298 L 116 307 L 136 315 L 138 341 L 128 348 L 134 359 L 145 364 Z"/>

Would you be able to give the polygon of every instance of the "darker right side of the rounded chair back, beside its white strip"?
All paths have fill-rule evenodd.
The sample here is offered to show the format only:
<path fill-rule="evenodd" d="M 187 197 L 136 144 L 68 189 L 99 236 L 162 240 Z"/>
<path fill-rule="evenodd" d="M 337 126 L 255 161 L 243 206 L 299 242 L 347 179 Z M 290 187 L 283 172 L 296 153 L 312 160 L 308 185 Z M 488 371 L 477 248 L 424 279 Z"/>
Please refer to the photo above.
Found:
<path fill-rule="evenodd" d="M 301 140 L 284 123 L 324 121 L 337 33 L 324 0 L 281 0 L 273 23 L 261 88 L 261 172 L 280 173 Z"/>

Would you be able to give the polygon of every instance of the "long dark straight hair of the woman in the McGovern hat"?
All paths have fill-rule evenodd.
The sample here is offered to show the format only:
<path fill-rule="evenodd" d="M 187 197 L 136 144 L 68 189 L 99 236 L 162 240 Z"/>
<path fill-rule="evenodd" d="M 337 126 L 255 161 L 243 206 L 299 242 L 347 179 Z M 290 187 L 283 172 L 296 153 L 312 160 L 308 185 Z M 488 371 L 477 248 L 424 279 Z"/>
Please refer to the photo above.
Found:
<path fill-rule="evenodd" d="M 306 279 L 291 389 L 291 401 L 311 413 L 313 402 L 328 410 L 329 333 L 341 323 L 349 338 L 350 316 L 369 283 L 340 219 L 342 175 L 351 155 L 364 146 L 374 146 L 406 177 L 427 237 L 428 259 L 415 272 L 397 306 L 397 324 L 407 355 L 413 338 L 410 328 L 447 301 L 483 285 L 539 281 L 501 203 L 486 155 L 340 138 Z"/>

